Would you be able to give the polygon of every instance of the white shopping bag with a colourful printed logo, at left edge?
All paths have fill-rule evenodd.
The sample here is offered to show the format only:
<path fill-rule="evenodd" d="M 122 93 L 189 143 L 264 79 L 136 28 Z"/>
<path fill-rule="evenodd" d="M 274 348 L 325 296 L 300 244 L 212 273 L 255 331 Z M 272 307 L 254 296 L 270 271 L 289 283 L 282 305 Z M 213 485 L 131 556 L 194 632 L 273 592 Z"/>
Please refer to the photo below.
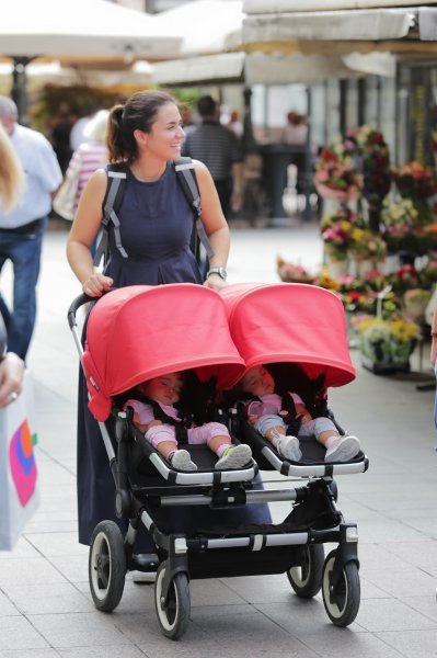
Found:
<path fill-rule="evenodd" d="M 0 409 L 0 551 L 14 547 L 39 502 L 33 393 L 26 372 L 22 393 Z"/>

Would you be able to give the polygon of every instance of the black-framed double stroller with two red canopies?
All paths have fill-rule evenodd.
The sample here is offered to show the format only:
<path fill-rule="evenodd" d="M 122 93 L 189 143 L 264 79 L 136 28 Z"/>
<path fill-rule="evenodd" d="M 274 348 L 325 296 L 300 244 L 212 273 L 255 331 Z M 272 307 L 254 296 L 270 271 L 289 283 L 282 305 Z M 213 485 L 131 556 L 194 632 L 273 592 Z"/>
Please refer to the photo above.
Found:
<path fill-rule="evenodd" d="M 91 541 L 95 606 L 111 612 L 118 605 L 127 571 L 156 572 L 160 628 L 179 639 L 189 621 L 189 580 L 286 574 L 298 597 L 322 590 L 330 620 L 349 625 L 360 600 L 358 533 L 336 507 L 333 478 L 364 473 L 367 457 L 360 452 L 347 463 L 325 463 L 325 449 L 314 438 L 300 438 L 302 458 L 287 461 L 232 399 L 246 368 L 263 364 L 276 382 L 292 385 L 313 416 L 334 420 L 326 390 L 355 376 L 340 299 L 287 283 L 229 285 L 221 294 L 194 284 L 129 286 L 96 302 L 83 350 L 76 314 L 89 300 L 74 299 L 68 319 L 114 476 L 119 520 L 100 522 Z M 251 445 L 245 467 L 217 470 L 209 449 L 184 445 L 198 470 L 176 470 L 135 427 L 124 409 L 133 389 L 179 371 L 189 372 L 185 402 L 195 421 L 222 422 L 233 443 Z M 260 487 L 258 468 L 281 474 L 284 488 Z M 280 523 L 232 524 L 235 511 L 285 501 L 290 511 Z M 141 524 L 152 536 L 153 554 L 134 551 Z M 326 557 L 325 543 L 337 544 Z"/>

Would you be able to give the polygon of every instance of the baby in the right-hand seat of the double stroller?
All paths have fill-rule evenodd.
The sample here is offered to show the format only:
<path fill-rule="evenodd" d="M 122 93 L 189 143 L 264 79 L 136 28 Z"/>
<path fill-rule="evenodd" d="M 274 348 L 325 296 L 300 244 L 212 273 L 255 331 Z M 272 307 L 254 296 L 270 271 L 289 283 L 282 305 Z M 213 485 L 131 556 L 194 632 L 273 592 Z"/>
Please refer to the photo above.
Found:
<path fill-rule="evenodd" d="M 250 424 L 265 436 L 286 460 L 299 462 L 302 456 L 297 436 L 286 435 L 286 424 L 280 417 L 283 399 L 275 393 L 275 381 L 271 373 L 257 365 L 245 373 L 238 386 L 256 399 L 246 402 L 245 413 Z M 312 418 L 302 399 L 296 393 L 288 393 L 300 418 L 299 434 L 312 436 L 326 447 L 325 462 L 348 462 L 358 454 L 360 446 L 356 436 L 342 436 L 329 418 Z"/>

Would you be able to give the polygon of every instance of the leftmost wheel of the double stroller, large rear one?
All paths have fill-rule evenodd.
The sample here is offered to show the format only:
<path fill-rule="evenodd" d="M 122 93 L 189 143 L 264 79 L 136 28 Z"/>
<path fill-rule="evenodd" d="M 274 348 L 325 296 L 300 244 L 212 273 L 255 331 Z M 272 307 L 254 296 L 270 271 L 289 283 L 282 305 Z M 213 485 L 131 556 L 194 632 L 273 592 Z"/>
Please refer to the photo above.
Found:
<path fill-rule="evenodd" d="M 89 579 L 94 605 L 112 612 L 125 588 L 126 554 L 122 531 L 114 521 L 95 526 L 90 546 Z"/>

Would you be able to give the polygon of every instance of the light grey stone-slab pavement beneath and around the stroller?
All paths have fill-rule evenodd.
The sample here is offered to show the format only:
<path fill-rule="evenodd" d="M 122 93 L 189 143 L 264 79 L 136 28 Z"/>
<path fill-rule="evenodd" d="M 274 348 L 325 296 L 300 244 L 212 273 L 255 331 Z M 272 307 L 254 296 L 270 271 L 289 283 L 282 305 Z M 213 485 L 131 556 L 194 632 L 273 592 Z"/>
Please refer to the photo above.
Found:
<path fill-rule="evenodd" d="M 310 268 L 321 260 L 311 224 L 232 234 L 233 282 L 277 281 L 278 253 Z M 44 245 L 30 353 L 42 503 L 15 549 L 0 553 L 0 658 L 437 657 L 433 393 L 417 392 L 409 378 L 363 371 L 356 353 L 357 379 L 330 394 L 337 419 L 360 436 L 370 458 L 366 474 L 336 480 L 338 507 L 347 521 L 357 522 L 360 537 L 361 605 L 355 623 L 334 627 L 321 597 L 299 600 L 285 575 L 193 581 L 192 622 L 179 643 L 161 635 L 150 586 L 128 580 L 116 611 L 94 609 L 88 549 L 77 542 L 79 359 L 66 314 L 80 291 L 64 256 L 66 237 L 65 230 L 50 230 Z M 3 291 L 7 283 L 8 272 Z M 265 478 L 285 481 L 272 473 Z M 272 507 L 280 520 L 285 503 Z"/>

